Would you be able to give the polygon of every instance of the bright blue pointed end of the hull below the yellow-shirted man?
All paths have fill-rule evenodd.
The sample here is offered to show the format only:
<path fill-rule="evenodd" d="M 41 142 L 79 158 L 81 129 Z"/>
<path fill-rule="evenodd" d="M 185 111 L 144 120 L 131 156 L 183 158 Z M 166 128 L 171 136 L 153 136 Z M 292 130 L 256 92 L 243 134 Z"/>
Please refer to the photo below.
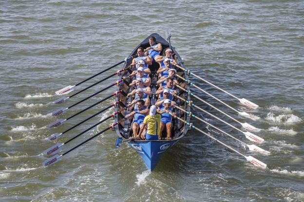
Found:
<path fill-rule="evenodd" d="M 135 141 L 129 142 L 129 145 L 135 149 L 144 160 L 150 170 L 153 170 L 161 156 L 179 139 L 170 141 Z"/>

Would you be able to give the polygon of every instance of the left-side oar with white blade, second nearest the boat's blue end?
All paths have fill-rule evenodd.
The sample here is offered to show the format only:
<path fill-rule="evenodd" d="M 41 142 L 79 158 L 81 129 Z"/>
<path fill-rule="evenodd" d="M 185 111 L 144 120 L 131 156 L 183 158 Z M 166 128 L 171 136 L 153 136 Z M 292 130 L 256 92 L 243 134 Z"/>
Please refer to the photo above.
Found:
<path fill-rule="evenodd" d="M 114 117 L 116 114 L 118 114 L 118 113 L 120 113 L 120 112 L 122 112 L 122 111 L 124 111 L 124 110 L 126 110 L 126 109 L 127 109 L 127 107 L 123 108 L 122 110 L 115 111 L 114 113 L 112 113 L 112 114 L 111 114 L 110 116 L 108 116 L 107 118 L 104 118 L 103 120 L 99 121 L 98 123 L 96 123 L 95 125 L 91 126 L 90 128 L 88 128 L 88 129 L 86 129 L 86 130 L 80 132 L 80 133 L 77 134 L 75 137 L 71 138 L 70 140 L 66 141 L 65 143 L 57 143 L 57 144 L 54 145 L 53 147 L 50 147 L 50 148 L 44 150 L 42 153 L 43 153 L 44 155 L 51 155 L 51 154 L 56 154 L 56 153 L 60 152 L 61 149 L 62 149 L 62 147 L 63 147 L 64 145 L 68 144 L 69 142 L 71 142 L 72 140 L 76 139 L 77 137 L 79 137 L 79 136 L 82 135 L 83 133 L 89 131 L 90 129 L 95 128 L 95 127 L 98 126 L 99 124 L 101 124 L 101 123 L 107 121 L 108 119 Z"/>

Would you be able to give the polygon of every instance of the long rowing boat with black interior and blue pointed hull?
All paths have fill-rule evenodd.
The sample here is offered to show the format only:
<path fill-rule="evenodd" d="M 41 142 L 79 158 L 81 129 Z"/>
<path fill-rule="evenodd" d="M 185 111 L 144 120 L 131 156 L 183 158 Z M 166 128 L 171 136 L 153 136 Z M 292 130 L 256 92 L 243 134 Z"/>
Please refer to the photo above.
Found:
<path fill-rule="evenodd" d="M 171 47 L 171 44 L 165 40 L 163 37 L 161 37 L 160 35 L 154 33 L 152 35 L 150 35 L 149 37 L 147 37 L 146 39 L 144 39 L 140 44 L 138 44 L 138 46 L 136 46 L 134 48 L 134 50 L 131 52 L 131 54 L 129 55 L 129 57 L 131 57 L 132 55 L 136 55 L 136 51 L 139 47 L 143 47 L 144 49 L 149 47 L 149 38 L 150 37 L 155 37 L 156 38 L 156 43 L 161 43 L 163 50 L 161 51 L 160 55 L 165 55 L 165 49 L 168 47 Z M 180 57 L 180 55 L 176 52 L 174 47 L 171 47 L 171 50 L 173 52 L 173 59 L 175 59 L 176 63 L 181 66 L 184 67 L 184 63 L 182 61 L 182 58 Z M 128 62 L 125 63 L 124 68 L 128 67 L 131 64 L 131 60 L 129 60 Z M 151 89 L 153 92 L 153 95 L 151 96 L 151 104 L 154 104 L 156 101 L 156 97 L 155 97 L 155 91 L 157 89 L 157 85 L 156 85 L 156 81 L 157 81 L 157 75 L 156 75 L 156 71 L 159 68 L 158 63 L 156 63 L 153 60 L 152 66 L 150 67 L 151 69 Z M 126 72 L 124 74 L 121 75 L 121 79 L 125 78 L 126 76 L 130 75 L 131 71 Z M 177 74 L 185 79 L 188 79 L 188 75 L 182 71 L 181 69 L 177 69 Z M 131 83 L 132 80 L 134 78 L 130 78 L 128 83 Z M 177 80 L 179 83 L 183 82 L 182 79 L 178 79 Z M 117 87 L 117 91 L 122 90 L 122 86 L 118 86 Z M 185 83 L 185 89 L 190 90 L 189 86 L 187 86 L 187 84 Z M 188 101 L 190 101 L 190 95 L 184 91 L 181 90 L 177 90 L 177 94 L 179 96 L 182 96 L 184 98 L 186 98 Z M 125 94 L 127 94 L 128 92 L 130 92 L 130 89 L 128 89 L 127 91 L 124 91 Z M 118 101 L 118 97 L 116 97 L 116 101 Z M 129 100 L 127 101 L 132 101 L 131 98 L 129 98 Z M 190 111 L 190 106 L 181 100 L 175 100 L 176 101 L 176 105 L 183 107 L 183 109 L 187 110 L 188 112 Z M 120 105 L 116 105 L 115 106 L 115 112 L 119 112 L 119 110 L 122 107 L 126 107 L 125 103 L 121 102 Z M 181 111 L 175 111 L 176 115 L 178 117 L 180 117 L 181 119 L 183 119 L 186 122 L 189 122 L 190 117 L 187 115 L 187 113 L 183 113 Z M 124 112 L 119 112 L 117 113 L 117 115 L 115 115 L 115 122 L 119 122 L 124 119 L 126 116 L 126 114 Z M 147 167 L 150 170 L 153 170 L 155 168 L 155 166 L 157 165 L 157 163 L 159 162 L 159 160 L 161 159 L 161 156 L 172 146 L 174 146 L 181 138 L 183 138 L 188 129 L 189 126 L 187 124 L 185 124 L 184 122 L 178 120 L 178 119 L 172 119 L 172 130 L 171 130 L 171 134 L 172 134 L 172 139 L 171 140 L 167 140 L 166 138 L 160 138 L 160 140 L 136 140 L 135 138 L 131 138 L 132 137 L 132 126 L 130 121 L 125 121 L 124 123 L 120 123 L 115 127 L 115 130 L 117 132 L 117 135 L 119 136 L 119 138 L 123 141 L 123 142 L 128 142 L 129 146 L 131 146 L 135 151 L 138 152 L 138 154 L 142 157 L 142 159 L 144 160 L 144 163 L 147 165 Z"/>

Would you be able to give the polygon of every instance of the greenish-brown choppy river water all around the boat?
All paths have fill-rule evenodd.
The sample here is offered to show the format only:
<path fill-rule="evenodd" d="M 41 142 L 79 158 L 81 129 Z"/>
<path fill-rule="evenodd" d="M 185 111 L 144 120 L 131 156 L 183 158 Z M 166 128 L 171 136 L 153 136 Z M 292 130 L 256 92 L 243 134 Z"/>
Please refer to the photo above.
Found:
<path fill-rule="evenodd" d="M 0 201 L 1 202 L 301 202 L 304 201 L 304 2 L 299 1 L 76 1 L 10 0 L 0 2 Z M 192 119 L 195 126 L 245 155 L 267 164 L 261 169 L 242 156 L 191 130 L 149 172 L 126 144 L 114 149 L 116 133 L 107 131 L 42 167 L 40 153 L 54 145 L 44 138 L 62 132 L 107 100 L 57 129 L 41 129 L 55 121 L 48 114 L 70 106 L 112 80 L 80 93 L 61 106 L 55 91 L 74 85 L 121 61 L 145 37 L 165 37 L 185 65 L 232 94 L 258 104 L 250 110 L 223 92 L 190 77 L 201 88 L 233 108 L 261 117 L 238 116 L 214 99 L 193 93 L 241 122 L 262 129 L 260 144 L 269 155 L 249 152 L 241 144 Z M 121 69 L 121 65 L 114 70 Z M 80 90 L 110 75 L 108 71 L 82 84 Z M 114 89 L 77 105 L 62 117 L 106 97 Z M 231 119 L 193 99 L 236 127 Z M 249 141 L 242 133 L 212 117 L 199 117 Z M 62 135 L 58 142 L 110 115 L 113 109 Z M 63 147 L 74 147 L 109 120 Z"/>

